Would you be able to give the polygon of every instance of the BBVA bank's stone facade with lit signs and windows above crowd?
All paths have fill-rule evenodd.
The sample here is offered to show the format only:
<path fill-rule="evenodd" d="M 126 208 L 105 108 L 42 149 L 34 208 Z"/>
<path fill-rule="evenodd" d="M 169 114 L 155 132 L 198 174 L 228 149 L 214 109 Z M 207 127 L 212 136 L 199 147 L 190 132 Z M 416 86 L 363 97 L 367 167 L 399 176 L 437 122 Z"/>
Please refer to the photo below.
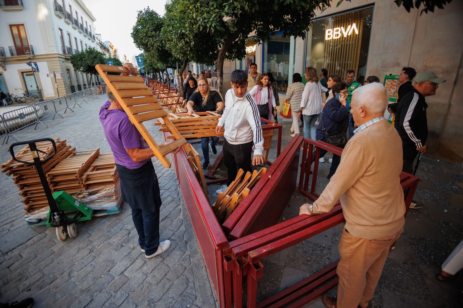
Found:
<path fill-rule="evenodd" d="M 381 81 L 386 75 L 398 75 L 404 66 L 434 71 L 447 82 L 426 99 L 426 156 L 463 166 L 463 103 L 458 98 L 463 90 L 463 36 L 452 31 L 463 28 L 461 16 L 463 1 L 421 16 L 416 9 L 407 13 L 393 1 L 344 1 L 319 12 L 305 39 L 276 33 L 271 41 L 256 43 L 251 33 L 246 58 L 224 65 L 224 84 L 232 70 L 247 69 L 251 60 L 258 72 L 272 72 L 281 93 L 293 73 L 303 74 L 306 66 L 326 68 L 343 79 L 352 69 L 361 83 L 369 75 Z"/>

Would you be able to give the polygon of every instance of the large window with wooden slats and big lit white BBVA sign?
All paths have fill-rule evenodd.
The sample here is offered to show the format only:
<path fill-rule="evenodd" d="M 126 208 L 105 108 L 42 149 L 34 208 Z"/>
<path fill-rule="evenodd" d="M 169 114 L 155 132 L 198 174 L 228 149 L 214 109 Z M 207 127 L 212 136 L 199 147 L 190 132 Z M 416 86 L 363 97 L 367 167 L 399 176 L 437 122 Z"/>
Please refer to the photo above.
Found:
<path fill-rule="evenodd" d="M 367 71 L 373 8 L 316 20 L 307 36 L 306 66 L 345 78 L 354 70 L 363 83 Z"/>

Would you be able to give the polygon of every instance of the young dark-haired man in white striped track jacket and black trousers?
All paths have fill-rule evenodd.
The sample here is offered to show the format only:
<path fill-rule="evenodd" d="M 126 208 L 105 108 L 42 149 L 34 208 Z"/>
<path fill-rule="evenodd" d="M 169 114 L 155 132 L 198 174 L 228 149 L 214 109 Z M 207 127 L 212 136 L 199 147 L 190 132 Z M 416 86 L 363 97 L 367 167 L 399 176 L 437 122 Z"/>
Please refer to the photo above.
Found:
<path fill-rule="evenodd" d="M 252 150 L 252 164 L 263 163 L 262 127 L 256 101 L 247 91 L 248 74 L 243 70 L 236 70 L 230 75 L 230 80 L 232 89 L 225 94 L 225 111 L 215 127 L 217 134 L 222 127 L 225 128 L 223 151 L 228 181 L 216 193 L 225 191 L 235 179 L 238 169 L 243 169 L 244 173 L 252 171 Z"/>

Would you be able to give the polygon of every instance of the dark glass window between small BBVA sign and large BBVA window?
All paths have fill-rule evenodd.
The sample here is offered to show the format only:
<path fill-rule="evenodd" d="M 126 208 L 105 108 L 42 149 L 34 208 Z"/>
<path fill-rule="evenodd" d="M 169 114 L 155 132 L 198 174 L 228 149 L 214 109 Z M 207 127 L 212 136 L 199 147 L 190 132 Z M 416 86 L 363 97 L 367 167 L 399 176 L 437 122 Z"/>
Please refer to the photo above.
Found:
<path fill-rule="evenodd" d="M 291 37 L 282 34 L 272 36 L 263 44 L 262 72 L 271 72 L 278 84 L 278 91 L 286 91 L 289 76 L 289 50 Z"/>

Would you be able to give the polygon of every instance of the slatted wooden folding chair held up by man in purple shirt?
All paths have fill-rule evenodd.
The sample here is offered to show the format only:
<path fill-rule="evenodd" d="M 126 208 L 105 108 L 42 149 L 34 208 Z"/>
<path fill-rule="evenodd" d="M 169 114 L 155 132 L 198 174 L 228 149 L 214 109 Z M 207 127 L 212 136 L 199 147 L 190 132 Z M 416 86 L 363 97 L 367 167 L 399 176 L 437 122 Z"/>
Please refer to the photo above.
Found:
<path fill-rule="evenodd" d="M 128 75 L 130 71 L 126 67 L 98 64 L 95 68 L 105 81 L 107 91 L 111 91 L 114 97 L 116 97 L 125 113 L 129 116 L 132 124 L 135 125 L 146 143 L 150 146 L 156 158 L 164 166 L 170 168 L 171 163 L 166 155 L 175 151 L 180 145 L 186 144 L 187 140 L 180 135 L 175 126 L 170 122 L 167 112 L 158 103 L 153 92 L 146 87 L 141 77 L 107 75 L 108 72 L 125 73 Z M 144 121 L 157 118 L 164 120 L 166 127 L 169 128 L 171 135 L 175 139 L 175 141 L 163 147 L 157 145 L 156 141 L 143 125 Z"/>

